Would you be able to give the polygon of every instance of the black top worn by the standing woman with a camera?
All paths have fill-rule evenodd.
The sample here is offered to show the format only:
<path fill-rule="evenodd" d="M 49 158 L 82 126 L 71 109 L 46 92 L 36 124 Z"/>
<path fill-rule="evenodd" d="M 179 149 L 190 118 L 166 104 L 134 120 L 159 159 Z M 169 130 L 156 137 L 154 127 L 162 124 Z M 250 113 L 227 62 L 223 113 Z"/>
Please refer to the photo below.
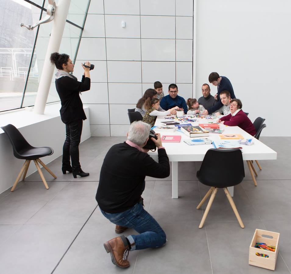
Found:
<path fill-rule="evenodd" d="M 79 92 L 90 90 L 90 78 L 83 76 L 79 82 L 69 76 L 63 76 L 55 80 L 55 87 L 61 99 L 62 122 L 68 124 L 79 119 L 86 120 Z"/>

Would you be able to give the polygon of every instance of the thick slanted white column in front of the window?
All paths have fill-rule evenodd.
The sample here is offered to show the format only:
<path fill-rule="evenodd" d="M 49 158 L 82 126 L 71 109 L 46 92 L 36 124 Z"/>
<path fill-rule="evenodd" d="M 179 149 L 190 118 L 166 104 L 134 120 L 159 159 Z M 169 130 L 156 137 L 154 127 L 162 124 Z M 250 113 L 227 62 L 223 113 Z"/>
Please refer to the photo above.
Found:
<path fill-rule="evenodd" d="M 44 59 L 44 67 L 41 73 L 41 79 L 39 81 L 37 96 L 34 104 L 34 113 L 36 114 L 44 114 L 49 87 L 51 85 L 51 79 L 55 69 L 55 67 L 51 65 L 49 58 L 53 52 L 59 51 L 70 3 L 71 0 L 59 0 L 59 4 L 56 7 L 51 37 L 48 42 L 48 49 Z"/>

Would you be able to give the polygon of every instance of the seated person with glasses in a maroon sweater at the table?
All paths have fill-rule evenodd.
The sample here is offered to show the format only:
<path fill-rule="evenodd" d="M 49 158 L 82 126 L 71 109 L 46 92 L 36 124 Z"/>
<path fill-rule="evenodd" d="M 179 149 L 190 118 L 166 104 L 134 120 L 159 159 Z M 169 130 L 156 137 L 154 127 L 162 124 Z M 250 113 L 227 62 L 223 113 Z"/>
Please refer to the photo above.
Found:
<path fill-rule="evenodd" d="M 257 132 L 253 123 L 242 110 L 242 102 L 240 99 L 232 99 L 230 101 L 230 114 L 220 118 L 217 122 L 228 126 L 239 126 L 245 132 L 254 136 Z"/>

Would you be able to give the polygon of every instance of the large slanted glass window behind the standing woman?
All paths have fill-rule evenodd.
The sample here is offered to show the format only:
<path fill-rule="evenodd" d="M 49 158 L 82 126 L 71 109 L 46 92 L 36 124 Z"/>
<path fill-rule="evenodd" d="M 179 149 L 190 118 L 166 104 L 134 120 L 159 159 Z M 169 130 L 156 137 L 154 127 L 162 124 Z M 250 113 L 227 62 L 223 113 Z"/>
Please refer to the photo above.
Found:
<path fill-rule="evenodd" d="M 48 0 L 1 0 L 0 112 L 34 105 L 53 22 L 41 24 L 33 31 L 21 28 L 20 23 L 36 23 L 41 14 L 46 15 L 47 6 Z M 87 6 L 88 0 L 72 0 L 69 8 L 59 52 L 69 54 L 73 61 Z M 56 101 L 59 96 L 52 84 L 47 103 Z"/>

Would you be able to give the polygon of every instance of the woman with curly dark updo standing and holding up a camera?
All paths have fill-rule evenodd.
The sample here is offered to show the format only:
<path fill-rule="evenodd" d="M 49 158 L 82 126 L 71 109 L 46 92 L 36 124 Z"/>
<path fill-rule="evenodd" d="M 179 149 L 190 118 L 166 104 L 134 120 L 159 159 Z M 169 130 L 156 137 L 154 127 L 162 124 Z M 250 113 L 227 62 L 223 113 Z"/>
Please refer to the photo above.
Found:
<path fill-rule="evenodd" d="M 86 177 L 89 173 L 84 172 L 81 169 L 79 162 L 79 144 L 81 140 L 83 120 L 87 117 L 83 110 L 83 104 L 79 93 L 81 91 L 90 90 L 90 63 L 87 61 L 82 64 L 84 74 L 81 82 L 78 82 L 77 78 L 70 74 L 73 72 L 74 64 L 67 54 L 59 54 L 54 52 L 51 54 L 50 61 L 52 65 L 55 65 L 57 73 L 55 74 L 55 87 L 61 99 L 61 119 L 66 124 L 66 140 L 63 146 L 63 158 L 62 158 L 62 172 L 66 174 L 66 171 L 73 172 L 73 177 L 77 175 Z M 72 160 L 72 166 L 70 164 L 70 157 Z"/>

